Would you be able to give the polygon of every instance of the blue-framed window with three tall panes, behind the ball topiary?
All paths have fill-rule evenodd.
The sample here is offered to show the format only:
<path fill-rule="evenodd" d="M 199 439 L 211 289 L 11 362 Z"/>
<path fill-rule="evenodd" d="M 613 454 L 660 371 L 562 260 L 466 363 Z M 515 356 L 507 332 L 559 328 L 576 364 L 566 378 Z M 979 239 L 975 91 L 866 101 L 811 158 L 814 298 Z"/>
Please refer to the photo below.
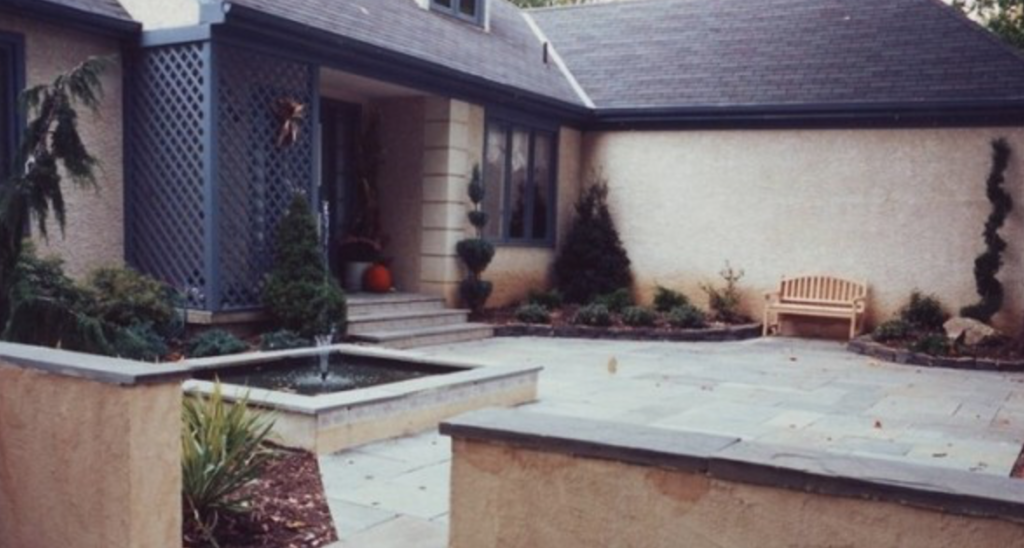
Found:
<path fill-rule="evenodd" d="M 551 245 L 555 237 L 556 133 L 487 121 L 484 143 L 485 236 L 509 244 Z"/>

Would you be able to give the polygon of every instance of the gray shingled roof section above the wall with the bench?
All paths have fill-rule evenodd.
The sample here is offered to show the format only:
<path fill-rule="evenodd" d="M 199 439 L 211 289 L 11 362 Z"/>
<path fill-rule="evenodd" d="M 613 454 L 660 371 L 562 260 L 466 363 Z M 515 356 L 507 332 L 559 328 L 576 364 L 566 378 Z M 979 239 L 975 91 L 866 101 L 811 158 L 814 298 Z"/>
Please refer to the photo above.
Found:
<path fill-rule="evenodd" d="M 530 11 L 598 109 L 1024 98 L 938 0 L 636 0 Z"/>

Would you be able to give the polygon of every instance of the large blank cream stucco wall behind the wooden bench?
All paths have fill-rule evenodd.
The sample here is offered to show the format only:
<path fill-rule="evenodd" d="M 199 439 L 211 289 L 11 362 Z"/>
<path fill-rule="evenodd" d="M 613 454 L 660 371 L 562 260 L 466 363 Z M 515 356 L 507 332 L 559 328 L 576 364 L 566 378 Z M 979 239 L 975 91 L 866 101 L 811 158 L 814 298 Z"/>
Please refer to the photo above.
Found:
<path fill-rule="evenodd" d="M 649 131 L 588 134 L 584 166 L 610 185 L 615 221 L 639 295 L 655 284 L 706 302 L 725 261 L 745 270 L 744 307 L 784 276 L 865 280 L 869 314 L 884 320 L 914 288 L 950 311 L 976 299 L 974 258 L 990 211 L 990 141 L 1015 156 L 1008 189 L 1018 204 L 999 278 L 1004 327 L 1019 324 L 1024 130 Z"/>

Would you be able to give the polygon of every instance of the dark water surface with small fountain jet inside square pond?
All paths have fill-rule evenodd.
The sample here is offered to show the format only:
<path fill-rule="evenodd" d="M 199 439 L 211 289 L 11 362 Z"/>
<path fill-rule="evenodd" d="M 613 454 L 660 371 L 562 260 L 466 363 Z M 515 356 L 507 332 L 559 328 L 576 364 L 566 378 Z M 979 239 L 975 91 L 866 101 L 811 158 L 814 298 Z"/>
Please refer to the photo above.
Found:
<path fill-rule="evenodd" d="M 197 373 L 196 378 L 208 381 L 219 379 L 224 384 L 281 392 L 319 395 L 459 371 L 465 370 L 331 352 L 325 356 L 286 357 L 205 370 Z"/>

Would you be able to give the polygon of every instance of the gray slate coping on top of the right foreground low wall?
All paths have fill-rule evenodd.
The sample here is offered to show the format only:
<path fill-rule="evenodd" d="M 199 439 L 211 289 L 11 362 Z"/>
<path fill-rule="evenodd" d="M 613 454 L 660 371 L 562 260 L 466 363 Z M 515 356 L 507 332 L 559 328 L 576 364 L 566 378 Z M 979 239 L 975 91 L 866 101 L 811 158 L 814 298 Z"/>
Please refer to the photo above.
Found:
<path fill-rule="evenodd" d="M 727 481 L 1024 521 L 1024 480 L 1010 477 L 523 410 L 470 413 L 441 423 L 440 431 Z"/>

